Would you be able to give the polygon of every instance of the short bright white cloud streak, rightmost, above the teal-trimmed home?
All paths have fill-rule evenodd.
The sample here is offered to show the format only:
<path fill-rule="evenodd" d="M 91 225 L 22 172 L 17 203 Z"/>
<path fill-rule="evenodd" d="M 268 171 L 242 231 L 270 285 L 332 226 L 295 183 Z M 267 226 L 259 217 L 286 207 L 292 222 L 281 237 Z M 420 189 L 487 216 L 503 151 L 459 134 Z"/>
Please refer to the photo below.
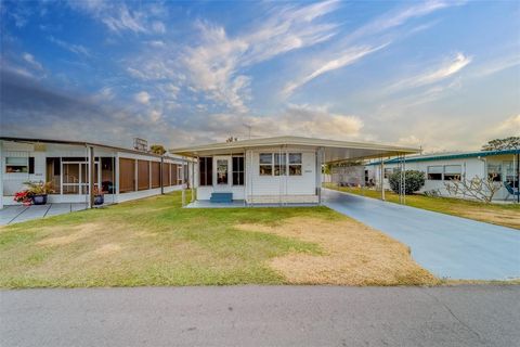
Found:
<path fill-rule="evenodd" d="M 388 89 L 389 91 L 398 91 L 402 89 L 416 88 L 435 83 L 455 75 L 464 67 L 466 67 L 469 63 L 471 63 L 471 56 L 466 56 L 463 53 L 457 53 L 455 57 L 443 62 L 434 69 L 429 69 L 418 75 L 404 78 L 399 82 L 391 85 Z"/>

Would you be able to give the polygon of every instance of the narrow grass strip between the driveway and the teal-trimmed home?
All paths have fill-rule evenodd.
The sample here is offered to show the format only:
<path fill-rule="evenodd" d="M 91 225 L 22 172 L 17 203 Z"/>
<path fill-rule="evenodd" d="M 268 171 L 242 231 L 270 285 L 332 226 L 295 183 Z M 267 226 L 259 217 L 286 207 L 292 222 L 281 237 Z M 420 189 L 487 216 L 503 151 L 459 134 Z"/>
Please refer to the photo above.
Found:
<path fill-rule="evenodd" d="M 334 183 L 325 183 L 324 187 L 367 197 L 380 198 L 381 196 L 380 191 L 369 189 L 337 187 Z M 385 196 L 389 202 L 399 203 L 399 195 L 393 192 L 387 191 L 385 192 Z M 452 197 L 407 195 L 406 205 L 433 210 L 435 213 L 520 229 L 520 204 L 484 204 Z"/>

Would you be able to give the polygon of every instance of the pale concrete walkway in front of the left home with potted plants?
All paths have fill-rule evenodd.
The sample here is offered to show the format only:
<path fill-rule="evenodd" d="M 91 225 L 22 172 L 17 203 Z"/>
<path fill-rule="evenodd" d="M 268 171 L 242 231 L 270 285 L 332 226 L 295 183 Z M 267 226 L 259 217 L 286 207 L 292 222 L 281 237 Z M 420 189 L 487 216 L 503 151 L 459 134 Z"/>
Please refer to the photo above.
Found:
<path fill-rule="evenodd" d="M 0 209 L 0 226 L 20 223 L 37 218 L 69 214 L 75 210 L 86 209 L 87 204 L 47 204 L 31 206 L 4 206 Z"/>

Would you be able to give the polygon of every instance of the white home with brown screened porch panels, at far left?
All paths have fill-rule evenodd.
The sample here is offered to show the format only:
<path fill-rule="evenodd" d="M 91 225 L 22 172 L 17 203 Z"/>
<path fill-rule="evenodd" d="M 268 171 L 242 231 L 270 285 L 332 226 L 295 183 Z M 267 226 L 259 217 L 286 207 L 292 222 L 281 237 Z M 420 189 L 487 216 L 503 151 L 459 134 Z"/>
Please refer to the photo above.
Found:
<path fill-rule="evenodd" d="M 50 203 L 91 205 L 93 188 L 105 204 L 181 190 L 187 182 L 187 162 L 99 143 L 48 139 L 0 138 L 0 208 L 17 204 L 24 183 L 52 182 Z"/>

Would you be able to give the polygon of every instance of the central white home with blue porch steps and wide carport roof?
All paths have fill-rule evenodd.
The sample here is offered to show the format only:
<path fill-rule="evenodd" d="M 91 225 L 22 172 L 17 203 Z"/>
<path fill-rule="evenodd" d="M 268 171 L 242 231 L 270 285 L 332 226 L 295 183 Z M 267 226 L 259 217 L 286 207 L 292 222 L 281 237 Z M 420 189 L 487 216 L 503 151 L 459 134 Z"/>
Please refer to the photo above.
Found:
<path fill-rule="evenodd" d="M 320 204 L 322 165 L 385 158 L 419 149 L 381 143 L 275 137 L 170 150 L 197 163 L 196 200 L 257 204 Z"/>

